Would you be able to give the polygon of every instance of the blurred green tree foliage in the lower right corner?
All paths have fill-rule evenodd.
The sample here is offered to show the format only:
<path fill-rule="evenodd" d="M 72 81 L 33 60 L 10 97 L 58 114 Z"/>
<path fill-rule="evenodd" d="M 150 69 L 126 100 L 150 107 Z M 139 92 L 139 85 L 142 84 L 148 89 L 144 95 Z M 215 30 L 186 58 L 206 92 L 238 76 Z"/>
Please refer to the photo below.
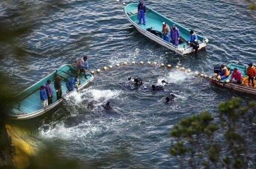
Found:
<path fill-rule="evenodd" d="M 256 156 L 256 133 L 248 130 L 248 127 L 254 127 L 252 122 L 256 121 L 255 108 L 254 102 L 241 106 L 241 99 L 233 98 L 218 105 L 218 119 L 207 111 L 183 118 L 170 132 L 176 141 L 170 147 L 170 154 L 188 163 L 191 168 L 247 168 L 248 152 L 253 158 Z M 222 138 L 216 139 L 219 133 L 222 133 Z M 256 164 L 253 165 L 256 167 Z"/>

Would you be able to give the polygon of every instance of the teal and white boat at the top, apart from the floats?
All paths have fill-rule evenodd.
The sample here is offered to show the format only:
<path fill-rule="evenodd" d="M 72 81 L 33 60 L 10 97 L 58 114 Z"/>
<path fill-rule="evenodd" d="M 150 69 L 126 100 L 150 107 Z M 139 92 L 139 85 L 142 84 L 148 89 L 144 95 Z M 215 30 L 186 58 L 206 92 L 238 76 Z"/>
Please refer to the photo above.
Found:
<path fill-rule="evenodd" d="M 125 12 L 125 17 L 129 20 L 129 22 L 132 25 L 134 25 L 134 27 L 141 34 L 154 40 L 160 45 L 163 45 L 166 48 L 169 48 L 170 50 L 175 51 L 177 54 L 186 55 L 186 54 L 195 53 L 196 50 L 201 51 L 205 49 L 206 44 L 208 42 L 208 39 L 206 37 L 203 37 L 197 34 L 199 46 L 198 45 L 196 47 L 190 46 L 188 44 L 189 35 L 190 35 L 189 29 L 159 14 L 157 11 L 154 11 L 151 8 L 147 8 L 145 25 L 138 24 L 138 4 L 137 3 L 131 3 L 126 5 L 124 8 L 124 12 Z M 169 43 L 162 39 L 159 32 L 161 33 L 162 31 L 163 22 L 165 22 L 169 26 L 172 26 L 173 24 L 175 24 L 176 27 L 180 30 L 180 39 L 182 40 L 179 41 L 178 46 L 172 45 L 172 42 Z"/>

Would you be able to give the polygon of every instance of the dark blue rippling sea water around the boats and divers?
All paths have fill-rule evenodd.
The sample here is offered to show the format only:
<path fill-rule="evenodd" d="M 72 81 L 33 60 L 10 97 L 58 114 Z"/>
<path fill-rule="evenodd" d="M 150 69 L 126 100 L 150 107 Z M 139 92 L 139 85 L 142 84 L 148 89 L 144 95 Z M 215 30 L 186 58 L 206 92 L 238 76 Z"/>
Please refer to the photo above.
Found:
<path fill-rule="evenodd" d="M 94 81 L 82 92 L 70 96 L 38 118 L 19 121 L 29 131 L 31 144 L 53 144 L 61 155 L 79 158 L 85 163 L 102 163 L 100 168 L 176 168 L 168 154 L 173 140 L 172 126 L 181 118 L 207 110 L 217 118 L 217 105 L 236 96 L 248 97 L 209 85 L 208 79 L 193 73 L 213 74 L 220 63 L 247 65 L 256 63 L 256 22 L 247 4 L 239 0 L 144 1 L 148 7 L 209 39 L 198 55 L 179 56 L 140 34 L 126 20 L 122 3 L 116 0 L 26 0 L 2 2 L 1 20 L 9 29 L 32 25 L 31 31 L 16 38 L 25 55 L 17 57 L 15 45 L 1 44 L 5 57 L 0 71 L 8 93 L 18 93 L 62 64 L 76 66 L 76 60 L 88 55 L 93 70 L 113 65 L 112 70 L 95 74 Z M 8 20 L 5 20 L 9 17 Z M 192 73 L 159 65 L 140 65 L 140 61 L 178 65 Z M 128 62 L 116 68 L 116 63 Z M 131 65 L 135 61 L 135 65 Z M 129 76 L 141 76 L 143 86 L 119 85 Z M 151 85 L 165 79 L 173 83 L 163 91 Z M 15 90 L 10 89 L 13 86 Z M 147 87 L 147 88 L 146 88 Z M 169 104 L 165 97 L 174 93 Z M 39 99 L 39 98 L 38 98 Z M 94 102 L 93 110 L 87 103 Z M 111 101 L 120 114 L 101 107 Z M 29 142 L 29 141 L 28 141 Z"/>

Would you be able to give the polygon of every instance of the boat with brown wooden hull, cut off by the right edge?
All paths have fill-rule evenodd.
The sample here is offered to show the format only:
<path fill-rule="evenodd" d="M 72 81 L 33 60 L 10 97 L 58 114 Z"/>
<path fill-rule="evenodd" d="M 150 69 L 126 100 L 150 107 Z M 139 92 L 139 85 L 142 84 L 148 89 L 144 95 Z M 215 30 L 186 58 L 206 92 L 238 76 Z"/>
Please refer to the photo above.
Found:
<path fill-rule="evenodd" d="M 218 79 L 218 72 L 221 71 L 221 66 L 217 65 L 214 67 L 215 76 L 213 78 L 209 78 L 210 82 L 214 85 L 218 85 L 219 87 L 229 88 L 231 90 L 236 90 L 241 93 L 247 93 L 250 95 L 256 95 L 256 85 L 253 87 L 250 82 L 248 81 L 247 76 L 247 66 L 237 65 L 234 63 L 230 63 L 226 65 L 227 69 L 230 71 L 230 75 L 226 79 Z M 237 84 L 234 82 L 230 82 L 231 74 L 237 68 L 242 73 L 242 83 Z M 254 80 L 255 81 L 255 80 Z M 254 82 L 256 84 L 256 82 Z"/>

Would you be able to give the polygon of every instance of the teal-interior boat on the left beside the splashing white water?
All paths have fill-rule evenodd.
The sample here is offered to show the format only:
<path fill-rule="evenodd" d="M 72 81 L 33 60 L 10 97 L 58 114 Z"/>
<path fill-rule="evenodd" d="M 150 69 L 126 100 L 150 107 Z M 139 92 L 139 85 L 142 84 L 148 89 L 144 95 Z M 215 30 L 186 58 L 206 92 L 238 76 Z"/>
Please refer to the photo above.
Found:
<path fill-rule="evenodd" d="M 62 98 L 57 100 L 56 94 L 53 95 L 53 103 L 48 105 L 47 107 L 42 107 L 40 100 L 40 91 L 39 87 L 41 85 L 45 85 L 47 79 L 50 79 L 54 82 L 56 76 L 61 77 L 61 85 L 62 85 Z M 34 118 L 36 116 L 42 115 L 47 111 L 51 110 L 53 107 L 56 107 L 61 101 L 63 101 L 68 95 L 75 91 L 68 92 L 66 87 L 66 82 L 68 79 L 76 76 L 76 69 L 72 68 L 70 65 L 63 65 L 61 68 L 57 69 L 55 72 L 52 72 L 45 78 L 36 82 L 34 85 L 28 87 L 22 92 L 18 93 L 14 98 L 15 102 L 10 103 L 8 105 L 8 109 L 6 110 L 6 115 L 12 119 L 29 119 Z M 84 73 L 80 73 L 79 75 L 79 86 L 77 87 L 77 91 L 84 88 L 88 85 L 89 82 L 92 82 L 94 77 L 91 74 L 87 74 L 87 79 L 84 78 Z M 54 90 L 54 83 L 51 83 L 52 89 Z M 55 93 L 55 92 L 54 92 Z"/>

